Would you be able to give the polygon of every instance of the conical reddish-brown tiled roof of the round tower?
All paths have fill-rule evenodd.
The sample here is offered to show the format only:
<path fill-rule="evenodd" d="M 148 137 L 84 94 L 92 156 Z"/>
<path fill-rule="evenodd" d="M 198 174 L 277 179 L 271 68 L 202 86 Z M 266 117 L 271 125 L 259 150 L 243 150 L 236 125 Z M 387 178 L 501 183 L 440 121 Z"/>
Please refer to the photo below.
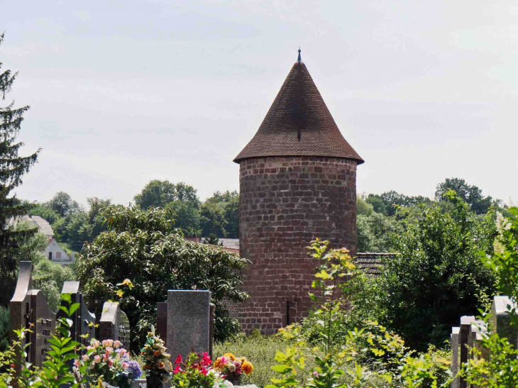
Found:
<path fill-rule="evenodd" d="M 295 62 L 257 133 L 233 161 L 269 156 L 341 157 L 363 163 L 340 133 L 303 62 Z"/>

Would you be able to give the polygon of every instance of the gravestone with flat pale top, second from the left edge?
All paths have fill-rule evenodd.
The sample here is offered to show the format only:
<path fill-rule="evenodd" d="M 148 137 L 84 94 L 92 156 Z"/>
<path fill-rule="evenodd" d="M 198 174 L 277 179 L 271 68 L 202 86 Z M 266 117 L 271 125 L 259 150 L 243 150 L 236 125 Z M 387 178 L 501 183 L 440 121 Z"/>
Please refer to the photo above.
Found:
<path fill-rule="evenodd" d="M 72 304 L 79 303 L 79 309 L 75 311 L 70 317 L 74 322 L 70 333 L 72 340 L 75 340 L 82 345 L 89 345 L 90 339 L 95 337 L 95 314 L 92 314 L 87 309 L 87 304 L 83 300 L 83 294 L 79 292 L 79 282 L 65 282 L 61 290 L 62 294 L 70 294 Z M 61 301 L 62 306 L 65 306 L 65 301 Z M 68 308 L 68 307 L 67 307 Z M 58 318 L 66 316 L 65 312 L 60 310 L 57 312 Z M 87 338 L 83 338 L 85 334 L 88 334 Z"/>

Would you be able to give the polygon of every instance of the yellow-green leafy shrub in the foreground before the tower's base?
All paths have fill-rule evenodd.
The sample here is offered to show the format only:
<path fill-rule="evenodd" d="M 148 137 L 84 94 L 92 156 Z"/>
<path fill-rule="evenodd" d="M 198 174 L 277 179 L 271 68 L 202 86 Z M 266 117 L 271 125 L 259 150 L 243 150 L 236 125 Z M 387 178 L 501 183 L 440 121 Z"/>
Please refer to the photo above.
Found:
<path fill-rule="evenodd" d="M 315 343 L 308 343 L 300 325 L 280 329 L 280 335 L 290 345 L 284 352 L 277 352 L 277 365 L 272 370 L 280 377 L 272 379 L 272 384 L 265 388 L 437 387 L 435 371 L 447 370 L 448 361 L 439 360 L 433 350 L 412 355 L 402 338 L 377 322 L 369 323 L 372 331 L 355 329 L 348 331 L 345 340 L 336 341 L 339 336 L 335 331 L 341 328 L 341 309 L 346 306 L 344 296 L 349 291 L 347 280 L 353 275 L 354 265 L 347 250 L 327 252 L 327 245 L 316 240 L 311 246 L 313 257 L 321 260 L 312 284 L 316 292 L 309 294 L 320 304 L 314 316 L 319 318 L 316 323 L 321 330 L 316 333 Z M 371 359 L 366 365 L 358 362 L 360 353 Z M 306 365 L 308 355 L 315 363 L 310 370 Z M 303 384 L 304 375 L 307 381 Z"/>

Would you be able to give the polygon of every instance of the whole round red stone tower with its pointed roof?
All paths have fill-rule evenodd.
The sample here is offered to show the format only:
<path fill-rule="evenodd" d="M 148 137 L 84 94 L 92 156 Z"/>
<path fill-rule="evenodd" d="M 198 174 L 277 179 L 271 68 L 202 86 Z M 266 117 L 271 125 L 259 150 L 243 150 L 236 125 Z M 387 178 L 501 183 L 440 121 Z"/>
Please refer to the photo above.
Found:
<path fill-rule="evenodd" d="M 239 164 L 241 257 L 251 261 L 241 327 L 265 334 L 298 321 L 316 262 L 314 238 L 356 253 L 356 166 L 363 159 L 336 126 L 299 58 Z"/>

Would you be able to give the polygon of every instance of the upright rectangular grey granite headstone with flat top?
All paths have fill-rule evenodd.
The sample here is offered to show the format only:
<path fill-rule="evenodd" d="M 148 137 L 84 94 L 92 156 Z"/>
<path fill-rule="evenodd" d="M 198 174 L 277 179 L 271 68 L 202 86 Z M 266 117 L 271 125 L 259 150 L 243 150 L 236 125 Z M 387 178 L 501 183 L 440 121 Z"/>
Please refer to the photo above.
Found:
<path fill-rule="evenodd" d="M 167 291 L 167 349 L 171 357 L 210 350 L 210 291 Z"/>

